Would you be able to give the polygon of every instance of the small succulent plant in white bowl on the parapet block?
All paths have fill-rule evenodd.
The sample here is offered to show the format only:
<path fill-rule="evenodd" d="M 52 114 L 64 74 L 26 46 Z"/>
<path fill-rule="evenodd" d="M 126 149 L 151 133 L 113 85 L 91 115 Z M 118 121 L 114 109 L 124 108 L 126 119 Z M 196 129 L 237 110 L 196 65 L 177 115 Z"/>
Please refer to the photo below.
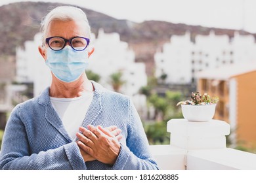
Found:
<path fill-rule="evenodd" d="M 201 95 L 200 92 L 192 92 L 191 99 L 180 101 L 181 111 L 184 118 L 190 122 L 207 122 L 215 114 L 218 97 L 210 97 L 207 93 Z"/>

